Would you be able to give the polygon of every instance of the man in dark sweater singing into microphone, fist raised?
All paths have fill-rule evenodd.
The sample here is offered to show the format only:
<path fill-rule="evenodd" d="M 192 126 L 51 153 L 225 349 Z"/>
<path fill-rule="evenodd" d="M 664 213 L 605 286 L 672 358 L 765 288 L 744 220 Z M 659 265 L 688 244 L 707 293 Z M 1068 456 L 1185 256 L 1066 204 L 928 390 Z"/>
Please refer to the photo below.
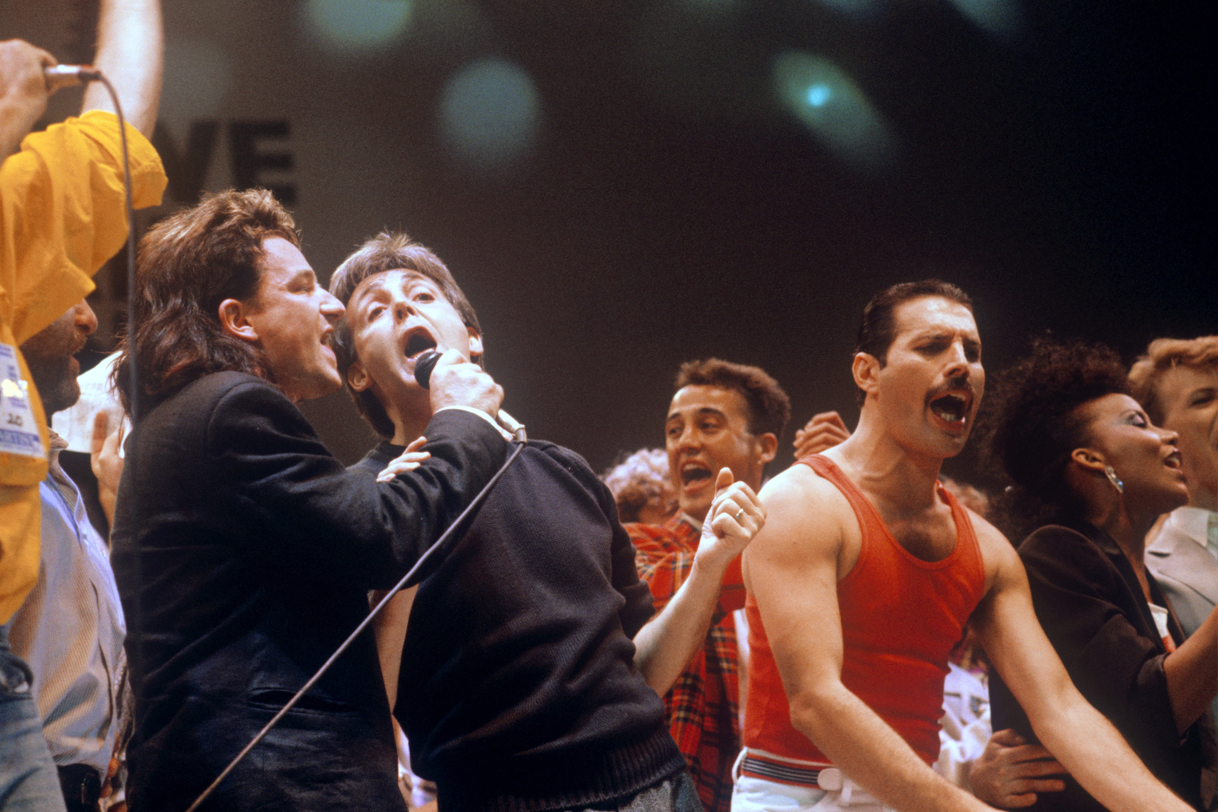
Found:
<path fill-rule="evenodd" d="M 443 263 L 404 235 L 369 240 L 330 290 L 347 303 L 340 370 L 386 439 L 356 466 L 371 482 L 430 432 L 419 355 L 481 358 L 484 338 Z M 659 695 L 700 645 L 723 571 L 764 521 L 753 491 L 730 483 L 725 470 L 686 588 L 648 623 L 650 593 L 608 488 L 577 454 L 527 443 L 423 573 L 409 631 L 382 650 L 401 656 L 395 716 L 441 808 L 700 808 Z M 381 631 L 379 644 L 393 638 Z"/>

